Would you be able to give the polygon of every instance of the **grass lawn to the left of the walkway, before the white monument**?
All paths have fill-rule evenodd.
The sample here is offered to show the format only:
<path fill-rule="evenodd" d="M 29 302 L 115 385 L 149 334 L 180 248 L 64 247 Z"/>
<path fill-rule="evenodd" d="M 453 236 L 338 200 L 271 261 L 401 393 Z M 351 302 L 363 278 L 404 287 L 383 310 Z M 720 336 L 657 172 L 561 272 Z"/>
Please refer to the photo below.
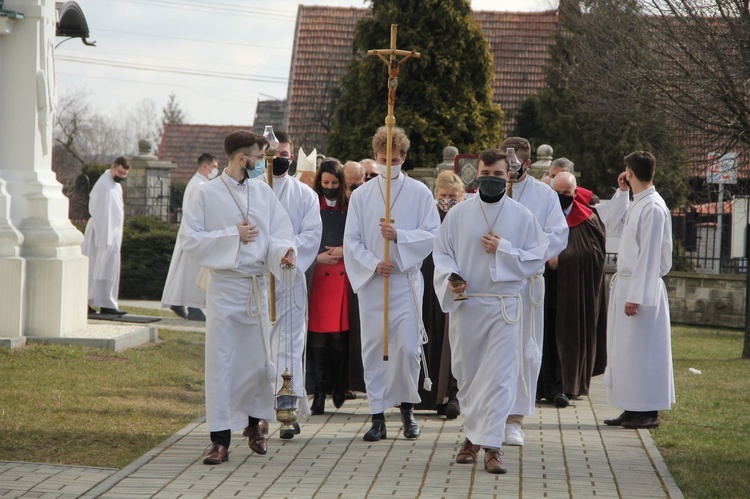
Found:
<path fill-rule="evenodd" d="M 0 349 L 0 460 L 122 468 L 204 414 L 204 335 Z"/>

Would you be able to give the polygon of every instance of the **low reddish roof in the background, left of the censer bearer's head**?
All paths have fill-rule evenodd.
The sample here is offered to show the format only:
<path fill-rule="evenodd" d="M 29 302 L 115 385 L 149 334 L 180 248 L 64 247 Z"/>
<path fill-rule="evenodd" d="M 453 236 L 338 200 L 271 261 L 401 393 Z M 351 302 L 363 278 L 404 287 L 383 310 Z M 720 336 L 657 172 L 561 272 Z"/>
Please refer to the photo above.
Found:
<path fill-rule="evenodd" d="M 224 137 L 235 130 L 249 130 L 242 125 L 174 125 L 164 127 L 159 151 L 162 161 L 177 165 L 169 178 L 173 184 L 187 184 L 198 168 L 198 156 L 207 152 L 219 158 L 219 165 L 226 163 Z"/>

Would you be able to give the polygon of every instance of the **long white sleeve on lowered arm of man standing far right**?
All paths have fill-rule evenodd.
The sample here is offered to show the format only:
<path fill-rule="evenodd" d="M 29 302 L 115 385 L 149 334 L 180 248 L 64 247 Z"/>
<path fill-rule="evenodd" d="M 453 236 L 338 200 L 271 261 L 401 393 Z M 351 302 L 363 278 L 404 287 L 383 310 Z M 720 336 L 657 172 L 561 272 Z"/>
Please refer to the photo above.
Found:
<path fill-rule="evenodd" d="M 630 276 L 630 286 L 626 301 L 648 307 L 657 304 L 659 279 L 661 278 L 662 248 L 669 247 L 672 240 L 664 230 L 668 213 L 654 203 L 646 205 L 638 219 L 636 243 L 638 257 Z M 631 218 L 630 223 L 633 223 Z M 665 240 L 666 239 L 666 240 Z"/>

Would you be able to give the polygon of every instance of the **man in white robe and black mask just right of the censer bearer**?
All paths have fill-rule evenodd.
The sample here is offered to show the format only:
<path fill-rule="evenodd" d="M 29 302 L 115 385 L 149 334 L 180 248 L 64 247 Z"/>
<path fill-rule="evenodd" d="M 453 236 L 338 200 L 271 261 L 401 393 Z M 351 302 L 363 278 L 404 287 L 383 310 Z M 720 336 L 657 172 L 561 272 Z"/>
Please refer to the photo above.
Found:
<path fill-rule="evenodd" d="M 310 407 L 305 391 L 305 373 L 302 365 L 307 342 L 307 283 L 305 271 L 318 256 L 320 238 L 323 234 L 323 222 L 320 219 L 320 204 L 315 191 L 306 184 L 288 175 L 289 165 L 294 159 L 292 138 L 286 132 L 276 132 L 279 147 L 273 165 L 273 191 L 281 206 L 289 215 L 294 230 L 294 245 L 297 248 L 297 269 L 294 287 L 284 287 L 276 279 L 276 322 L 271 329 L 271 355 L 279 363 L 279 374 L 289 367 L 292 373 L 292 388 L 297 394 L 299 414 L 303 418 L 310 415 Z M 264 179 L 266 177 L 264 176 Z M 291 296 L 290 296 L 291 295 Z M 291 309 L 289 306 L 291 305 Z M 286 331 L 291 324 L 292 331 Z M 288 352 L 286 335 L 291 334 L 291 352 Z M 281 376 L 276 381 L 276 388 L 281 388 Z M 292 423 L 294 430 L 282 429 L 279 436 L 283 439 L 293 438 L 299 434 L 300 427 Z"/>

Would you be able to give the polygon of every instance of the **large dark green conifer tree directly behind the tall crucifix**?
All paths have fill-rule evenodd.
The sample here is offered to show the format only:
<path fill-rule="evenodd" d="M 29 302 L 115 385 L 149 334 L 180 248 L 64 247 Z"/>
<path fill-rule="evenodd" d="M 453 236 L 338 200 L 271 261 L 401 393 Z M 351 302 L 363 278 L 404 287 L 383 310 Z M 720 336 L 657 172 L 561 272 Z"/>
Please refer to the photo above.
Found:
<path fill-rule="evenodd" d="M 359 22 L 353 59 L 342 79 L 327 154 L 342 160 L 372 155 L 371 139 L 385 124 L 387 66 L 369 49 L 390 46 L 398 24 L 399 49 L 416 50 L 400 70 L 394 115 L 411 140 L 406 168 L 430 167 L 443 148 L 462 153 L 497 146 L 504 116 L 492 102 L 493 64 L 487 40 L 467 0 L 372 0 L 372 17 Z"/>

